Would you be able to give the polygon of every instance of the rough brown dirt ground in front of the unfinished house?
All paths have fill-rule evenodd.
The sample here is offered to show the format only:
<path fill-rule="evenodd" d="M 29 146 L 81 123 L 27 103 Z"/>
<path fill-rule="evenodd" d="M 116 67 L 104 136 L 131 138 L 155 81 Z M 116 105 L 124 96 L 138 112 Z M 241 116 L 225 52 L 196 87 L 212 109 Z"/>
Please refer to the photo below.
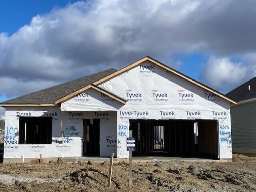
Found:
<path fill-rule="evenodd" d="M 233 155 L 233 162 L 134 163 L 133 188 L 128 164 L 109 162 L 0 164 L 1 192 L 255 192 L 256 157 Z"/>

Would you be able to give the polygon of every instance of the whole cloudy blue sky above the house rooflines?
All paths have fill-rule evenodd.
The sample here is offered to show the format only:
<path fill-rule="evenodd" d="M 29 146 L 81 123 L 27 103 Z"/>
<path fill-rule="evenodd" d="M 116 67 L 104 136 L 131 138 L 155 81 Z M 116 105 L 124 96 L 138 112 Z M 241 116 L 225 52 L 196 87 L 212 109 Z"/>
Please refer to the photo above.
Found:
<path fill-rule="evenodd" d="M 239 0 L 1 1 L 0 101 L 146 55 L 227 93 L 256 76 L 254 7 Z"/>

